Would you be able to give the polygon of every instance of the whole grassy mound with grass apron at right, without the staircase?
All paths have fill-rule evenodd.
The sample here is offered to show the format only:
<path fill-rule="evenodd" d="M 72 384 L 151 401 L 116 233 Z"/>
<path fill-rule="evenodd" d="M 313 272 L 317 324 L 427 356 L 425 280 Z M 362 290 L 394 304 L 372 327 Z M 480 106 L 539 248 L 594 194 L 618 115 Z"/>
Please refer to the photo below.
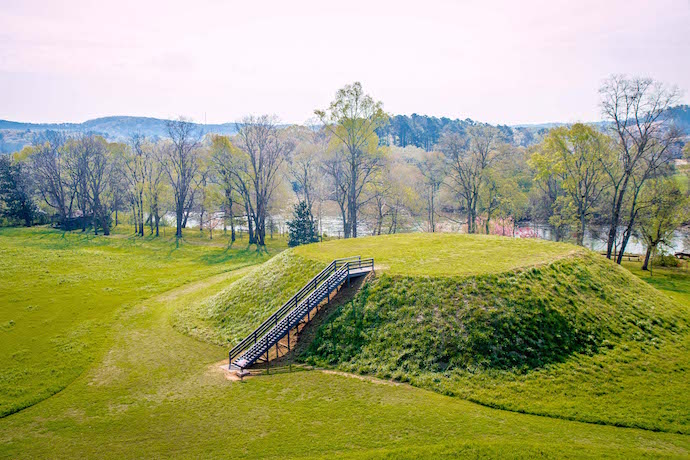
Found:
<path fill-rule="evenodd" d="M 232 345 L 351 255 L 374 257 L 378 277 L 300 359 L 518 412 L 690 433 L 688 302 L 567 244 L 412 234 L 301 246 L 174 324 Z"/>

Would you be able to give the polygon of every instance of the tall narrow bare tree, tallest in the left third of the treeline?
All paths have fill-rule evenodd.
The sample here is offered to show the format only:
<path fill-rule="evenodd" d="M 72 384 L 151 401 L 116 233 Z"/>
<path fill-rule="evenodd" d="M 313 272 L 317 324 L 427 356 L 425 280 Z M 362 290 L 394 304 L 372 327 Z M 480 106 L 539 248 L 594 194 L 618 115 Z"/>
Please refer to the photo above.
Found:
<path fill-rule="evenodd" d="M 191 208 L 193 185 L 199 170 L 199 137 L 194 123 L 179 118 L 167 122 L 171 148 L 163 151 L 163 170 L 173 192 L 177 238 L 182 237 L 185 216 Z"/>

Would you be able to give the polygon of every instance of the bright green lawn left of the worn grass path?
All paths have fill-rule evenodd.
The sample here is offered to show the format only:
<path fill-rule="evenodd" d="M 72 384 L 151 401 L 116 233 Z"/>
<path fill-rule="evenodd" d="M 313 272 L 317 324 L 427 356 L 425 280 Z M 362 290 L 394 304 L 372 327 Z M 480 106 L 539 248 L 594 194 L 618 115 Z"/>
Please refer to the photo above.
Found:
<path fill-rule="evenodd" d="M 284 247 L 274 243 L 271 255 Z M 129 227 L 107 238 L 0 229 L 0 416 L 65 388 L 100 356 L 110 326 L 141 300 L 269 258 L 241 242 L 234 247 L 192 229 L 179 242 L 135 238 Z"/>

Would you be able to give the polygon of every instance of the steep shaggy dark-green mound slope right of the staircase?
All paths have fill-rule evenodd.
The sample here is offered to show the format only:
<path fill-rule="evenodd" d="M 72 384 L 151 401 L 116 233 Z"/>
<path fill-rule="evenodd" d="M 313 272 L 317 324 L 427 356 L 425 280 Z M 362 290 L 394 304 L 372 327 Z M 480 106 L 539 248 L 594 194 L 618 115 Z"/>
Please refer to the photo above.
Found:
<path fill-rule="evenodd" d="M 682 324 L 668 305 L 595 254 L 498 275 L 383 275 L 321 331 L 310 356 L 384 375 L 521 371 L 621 340 L 657 344 Z"/>

